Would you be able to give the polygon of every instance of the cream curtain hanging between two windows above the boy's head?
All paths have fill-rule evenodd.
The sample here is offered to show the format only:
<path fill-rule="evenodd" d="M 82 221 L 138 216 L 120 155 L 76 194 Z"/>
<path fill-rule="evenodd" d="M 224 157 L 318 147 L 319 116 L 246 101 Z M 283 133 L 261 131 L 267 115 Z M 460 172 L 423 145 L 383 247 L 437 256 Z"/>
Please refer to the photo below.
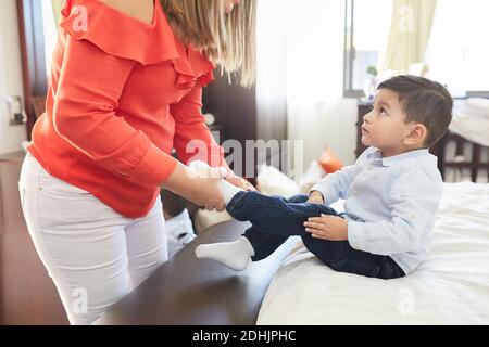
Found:
<path fill-rule="evenodd" d="M 437 0 L 396 0 L 381 70 L 409 73 L 425 62 Z"/>

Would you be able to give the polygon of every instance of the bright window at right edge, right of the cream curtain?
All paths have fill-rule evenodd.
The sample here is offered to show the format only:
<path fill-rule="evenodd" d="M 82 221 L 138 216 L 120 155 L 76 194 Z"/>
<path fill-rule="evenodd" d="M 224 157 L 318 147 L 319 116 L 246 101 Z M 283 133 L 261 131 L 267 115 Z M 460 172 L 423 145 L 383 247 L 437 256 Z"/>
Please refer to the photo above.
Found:
<path fill-rule="evenodd" d="M 489 97 L 489 2 L 437 2 L 426 62 L 454 97 Z"/>

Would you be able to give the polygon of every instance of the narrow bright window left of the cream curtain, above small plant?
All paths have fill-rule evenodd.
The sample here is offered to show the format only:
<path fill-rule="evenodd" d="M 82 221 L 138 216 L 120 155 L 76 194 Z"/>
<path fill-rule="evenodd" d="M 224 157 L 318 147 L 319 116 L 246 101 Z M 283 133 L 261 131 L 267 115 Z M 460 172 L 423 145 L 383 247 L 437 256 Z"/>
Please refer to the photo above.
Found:
<path fill-rule="evenodd" d="M 346 0 L 343 95 L 363 97 L 369 66 L 378 67 L 389 38 L 393 0 Z"/>

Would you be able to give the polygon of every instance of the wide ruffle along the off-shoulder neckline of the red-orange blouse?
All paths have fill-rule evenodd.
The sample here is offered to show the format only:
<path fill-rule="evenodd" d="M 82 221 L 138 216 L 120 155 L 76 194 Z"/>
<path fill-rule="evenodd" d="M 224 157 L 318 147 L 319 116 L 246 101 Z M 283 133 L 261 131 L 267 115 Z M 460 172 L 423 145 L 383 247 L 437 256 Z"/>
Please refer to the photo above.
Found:
<path fill-rule="evenodd" d="M 67 0 L 60 27 L 76 40 L 88 40 L 105 53 L 142 65 L 172 62 L 176 85 L 193 88 L 214 79 L 215 65 L 192 48 L 187 52 L 174 35 L 159 0 L 151 24 L 133 18 L 99 0 Z"/>

